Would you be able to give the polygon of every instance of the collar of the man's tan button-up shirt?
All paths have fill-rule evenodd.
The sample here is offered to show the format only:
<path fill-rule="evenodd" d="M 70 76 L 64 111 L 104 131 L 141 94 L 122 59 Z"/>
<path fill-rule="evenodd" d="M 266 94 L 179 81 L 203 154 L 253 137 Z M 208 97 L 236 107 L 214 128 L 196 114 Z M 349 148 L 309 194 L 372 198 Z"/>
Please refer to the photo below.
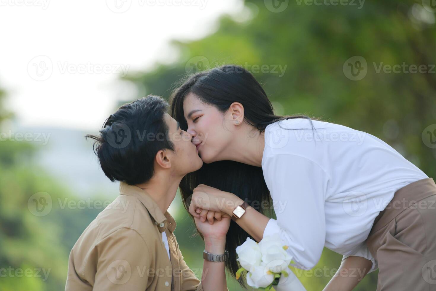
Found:
<path fill-rule="evenodd" d="M 165 229 L 168 229 L 173 233 L 174 229 L 176 229 L 176 221 L 174 218 L 170 213 L 168 213 L 168 211 L 165 212 L 165 214 L 162 213 L 157 203 L 154 202 L 150 194 L 148 194 L 144 189 L 135 185 L 129 185 L 125 182 L 119 182 L 119 195 L 136 197 L 150 213 L 150 216 L 153 218 L 160 233 L 163 233 Z"/>

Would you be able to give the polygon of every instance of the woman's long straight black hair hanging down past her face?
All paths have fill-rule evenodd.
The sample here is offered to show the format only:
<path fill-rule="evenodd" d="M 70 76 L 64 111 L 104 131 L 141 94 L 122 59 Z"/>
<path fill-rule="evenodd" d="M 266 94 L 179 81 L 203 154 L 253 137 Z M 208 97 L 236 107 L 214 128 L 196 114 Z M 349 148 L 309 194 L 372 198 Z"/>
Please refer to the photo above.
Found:
<path fill-rule="evenodd" d="M 313 130 L 312 119 L 309 116 L 275 115 L 272 104 L 259 82 L 245 68 L 237 65 L 224 65 L 195 73 L 174 90 L 170 98 L 170 113 L 180 123 L 183 130 L 187 130 L 183 102 L 189 93 L 198 96 L 203 103 L 215 106 L 221 113 L 225 113 L 232 103 L 241 103 L 244 106 L 244 122 L 252 125 L 261 133 L 269 124 L 291 118 L 310 120 Z M 263 214 L 272 213 L 268 211 L 272 210 L 272 199 L 261 167 L 236 161 L 204 163 L 198 171 L 187 174 L 180 183 L 186 209 L 189 209 L 193 189 L 199 184 L 233 193 Z M 236 247 L 244 243 L 247 237 L 249 234 L 237 223 L 231 221 L 226 236 L 229 260 L 225 262 L 225 265 L 233 277 L 239 268 L 236 261 Z M 245 277 L 239 279 L 239 283 L 245 287 Z"/>

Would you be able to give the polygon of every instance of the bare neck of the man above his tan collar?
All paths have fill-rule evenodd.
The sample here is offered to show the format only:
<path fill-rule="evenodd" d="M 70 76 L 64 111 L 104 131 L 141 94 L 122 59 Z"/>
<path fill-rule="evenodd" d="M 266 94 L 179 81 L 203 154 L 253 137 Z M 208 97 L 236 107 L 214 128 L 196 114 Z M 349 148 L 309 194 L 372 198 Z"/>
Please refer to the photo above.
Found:
<path fill-rule="evenodd" d="M 162 213 L 165 213 L 176 197 L 177 188 L 182 178 L 171 175 L 169 171 L 158 171 L 149 181 L 136 186 L 144 189 L 156 202 Z"/>

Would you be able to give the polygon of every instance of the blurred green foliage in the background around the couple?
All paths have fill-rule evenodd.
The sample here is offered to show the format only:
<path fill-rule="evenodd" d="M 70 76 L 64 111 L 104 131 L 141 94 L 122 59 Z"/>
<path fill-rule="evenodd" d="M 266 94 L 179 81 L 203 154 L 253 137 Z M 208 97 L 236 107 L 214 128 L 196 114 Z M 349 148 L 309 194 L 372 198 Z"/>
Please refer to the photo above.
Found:
<path fill-rule="evenodd" d="M 357 1 L 357 6 L 304 3 L 289 1 L 283 12 L 273 13 L 263 0 L 247 0 L 240 17 L 222 17 L 208 36 L 173 41 L 176 62 L 157 64 L 125 79 L 137 86 L 137 97 L 167 98 L 191 72 L 239 64 L 262 83 L 276 113 L 305 113 L 373 134 L 435 177 L 436 150 L 423 144 L 421 134 L 436 120 L 436 75 L 384 73 L 375 67 L 435 64 L 436 14 L 414 0 L 367 1 L 361 9 Z M 359 81 L 348 79 L 343 71 L 344 62 L 353 56 L 368 63 L 367 75 Z M 262 66 L 266 71 L 260 70 Z M 1 91 L 0 101 L 3 98 Z M 0 119 L 8 117 L 0 105 Z M 47 216 L 34 216 L 27 202 L 38 189 L 51 193 L 54 200 L 74 197 L 33 162 L 37 151 L 29 143 L 0 142 L 0 268 L 44 268 L 50 273 L 47 280 L 42 271 L 41 277 L 2 275 L 2 291 L 64 289 L 69 251 L 100 211 L 61 209 L 53 203 Z M 101 198 L 108 195 L 101 193 Z M 191 268 L 201 268 L 203 243 L 190 237 L 191 219 L 180 201 L 177 207 L 175 233 L 182 253 Z M 294 271 L 307 290 L 322 290 L 341 257 L 324 249 L 314 271 Z M 377 274 L 369 274 L 355 290 L 375 290 Z M 230 290 L 241 290 L 228 278 Z"/>

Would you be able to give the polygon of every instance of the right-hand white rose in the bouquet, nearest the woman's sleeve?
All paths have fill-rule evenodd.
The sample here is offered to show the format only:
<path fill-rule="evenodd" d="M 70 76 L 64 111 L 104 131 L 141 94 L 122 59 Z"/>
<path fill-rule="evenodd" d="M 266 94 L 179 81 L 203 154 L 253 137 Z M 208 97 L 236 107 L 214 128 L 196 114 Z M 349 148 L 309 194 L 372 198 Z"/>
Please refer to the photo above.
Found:
<path fill-rule="evenodd" d="M 283 243 L 279 234 L 265 236 L 259 242 L 262 253 L 262 263 L 274 273 L 280 273 L 287 270 L 291 263 L 292 256 L 286 252 L 287 246 Z"/>

